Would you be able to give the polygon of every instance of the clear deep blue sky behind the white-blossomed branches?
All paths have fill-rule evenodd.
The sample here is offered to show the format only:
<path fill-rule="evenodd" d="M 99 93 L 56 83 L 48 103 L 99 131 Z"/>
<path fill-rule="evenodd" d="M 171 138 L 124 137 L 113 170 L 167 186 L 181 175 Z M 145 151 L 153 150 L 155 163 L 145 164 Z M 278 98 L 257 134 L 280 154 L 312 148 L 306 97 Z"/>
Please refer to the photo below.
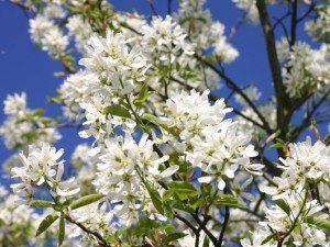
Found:
<path fill-rule="evenodd" d="M 116 10 L 152 13 L 146 0 L 111 0 L 110 2 Z M 154 0 L 154 2 L 158 13 L 165 14 L 167 1 Z M 228 33 L 242 15 L 242 11 L 235 9 L 231 0 L 208 0 L 207 8 L 211 10 L 213 19 L 226 24 Z M 277 9 L 274 11 L 279 12 Z M 28 30 L 28 20 L 22 11 L 7 1 L 0 1 L 0 101 L 2 102 L 8 93 L 25 91 L 30 108 L 45 108 L 46 114 L 58 115 L 61 108 L 46 104 L 46 98 L 54 96 L 62 82 L 62 79 L 53 75 L 54 71 L 61 71 L 62 66 L 33 45 Z M 307 38 L 301 32 L 299 34 L 302 35 L 302 40 Z M 265 92 L 264 97 L 270 96 L 273 89 L 261 27 L 244 25 L 232 43 L 239 49 L 240 57 L 228 66 L 228 75 L 242 87 L 254 81 L 261 91 Z M 223 93 L 224 91 L 219 91 L 219 96 Z M 3 120 L 1 103 L 0 123 Z M 65 137 L 57 147 L 64 147 L 67 154 L 77 143 L 84 142 L 77 137 L 76 131 L 62 130 L 62 133 Z M 10 154 L 1 142 L 0 164 Z"/>

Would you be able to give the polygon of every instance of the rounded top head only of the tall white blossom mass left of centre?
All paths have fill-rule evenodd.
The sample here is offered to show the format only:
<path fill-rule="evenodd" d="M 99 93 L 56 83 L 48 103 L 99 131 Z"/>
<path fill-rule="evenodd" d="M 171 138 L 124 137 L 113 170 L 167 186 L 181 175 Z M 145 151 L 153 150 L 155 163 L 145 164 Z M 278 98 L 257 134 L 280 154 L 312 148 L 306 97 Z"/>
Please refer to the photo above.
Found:
<path fill-rule="evenodd" d="M 86 48 L 86 57 L 80 64 L 90 72 L 96 72 L 118 94 L 132 92 L 136 83 L 145 80 L 148 69 L 146 58 L 139 45 L 130 48 L 122 34 L 108 30 L 106 37 L 92 35 Z"/>

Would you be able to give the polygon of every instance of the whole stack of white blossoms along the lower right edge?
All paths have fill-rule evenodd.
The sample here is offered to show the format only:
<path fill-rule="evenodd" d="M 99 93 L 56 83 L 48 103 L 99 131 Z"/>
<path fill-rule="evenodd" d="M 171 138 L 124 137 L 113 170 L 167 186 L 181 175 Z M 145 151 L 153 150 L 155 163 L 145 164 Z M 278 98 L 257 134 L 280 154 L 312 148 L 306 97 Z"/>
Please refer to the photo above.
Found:
<path fill-rule="evenodd" d="M 324 206 L 329 209 L 330 148 L 320 141 L 312 145 L 308 138 L 290 144 L 288 151 L 288 157 L 280 159 L 284 172 L 274 178 L 277 186 L 260 186 L 276 204 L 265 210 L 266 221 L 260 222 L 252 244 L 242 240 L 243 247 L 260 246 L 268 236 L 270 247 L 277 246 L 278 240 L 295 246 L 329 246 L 326 233 L 312 220 L 328 217 Z"/>

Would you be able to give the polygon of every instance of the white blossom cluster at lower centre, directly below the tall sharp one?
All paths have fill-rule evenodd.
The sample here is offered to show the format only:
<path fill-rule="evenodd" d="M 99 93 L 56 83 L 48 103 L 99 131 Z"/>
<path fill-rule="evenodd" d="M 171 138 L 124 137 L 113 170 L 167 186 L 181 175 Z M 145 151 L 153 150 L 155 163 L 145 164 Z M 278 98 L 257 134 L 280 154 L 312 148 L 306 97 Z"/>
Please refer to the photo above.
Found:
<path fill-rule="evenodd" d="M 127 133 L 125 137 L 107 139 L 101 150 L 92 183 L 112 203 L 122 203 L 118 206 L 117 216 L 124 218 L 125 224 L 138 218 L 138 210 L 150 210 L 152 203 L 146 187 L 153 184 L 161 189 L 157 182 L 178 169 L 178 166 L 165 169 L 163 165 L 168 156 L 160 157 L 153 145 L 146 134 L 136 143 Z"/>

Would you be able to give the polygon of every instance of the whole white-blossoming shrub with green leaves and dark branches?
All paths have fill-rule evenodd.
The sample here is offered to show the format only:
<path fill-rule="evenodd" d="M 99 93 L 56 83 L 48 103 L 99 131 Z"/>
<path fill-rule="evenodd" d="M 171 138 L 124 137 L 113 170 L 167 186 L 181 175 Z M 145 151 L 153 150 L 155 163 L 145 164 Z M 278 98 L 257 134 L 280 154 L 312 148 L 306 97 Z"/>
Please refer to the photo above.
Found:
<path fill-rule="evenodd" d="M 166 16 L 150 0 L 151 18 L 105 0 L 11 2 L 65 78 L 51 98 L 62 117 L 29 109 L 24 92 L 4 100 L 0 135 L 14 154 L 0 246 L 329 246 L 326 2 L 233 0 L 243 15 L 228 36 L 204 0 L 175 12 L 169 0 Z M 287 12 L 272 18 L 268 4 Z M 245 23 L 264 32 L 268 100 L 224 70 Z M 320 45 L 297 41 L 300 23 Z M 62 127 L 91 141 L 68 161 L 55 147 Z"/>

